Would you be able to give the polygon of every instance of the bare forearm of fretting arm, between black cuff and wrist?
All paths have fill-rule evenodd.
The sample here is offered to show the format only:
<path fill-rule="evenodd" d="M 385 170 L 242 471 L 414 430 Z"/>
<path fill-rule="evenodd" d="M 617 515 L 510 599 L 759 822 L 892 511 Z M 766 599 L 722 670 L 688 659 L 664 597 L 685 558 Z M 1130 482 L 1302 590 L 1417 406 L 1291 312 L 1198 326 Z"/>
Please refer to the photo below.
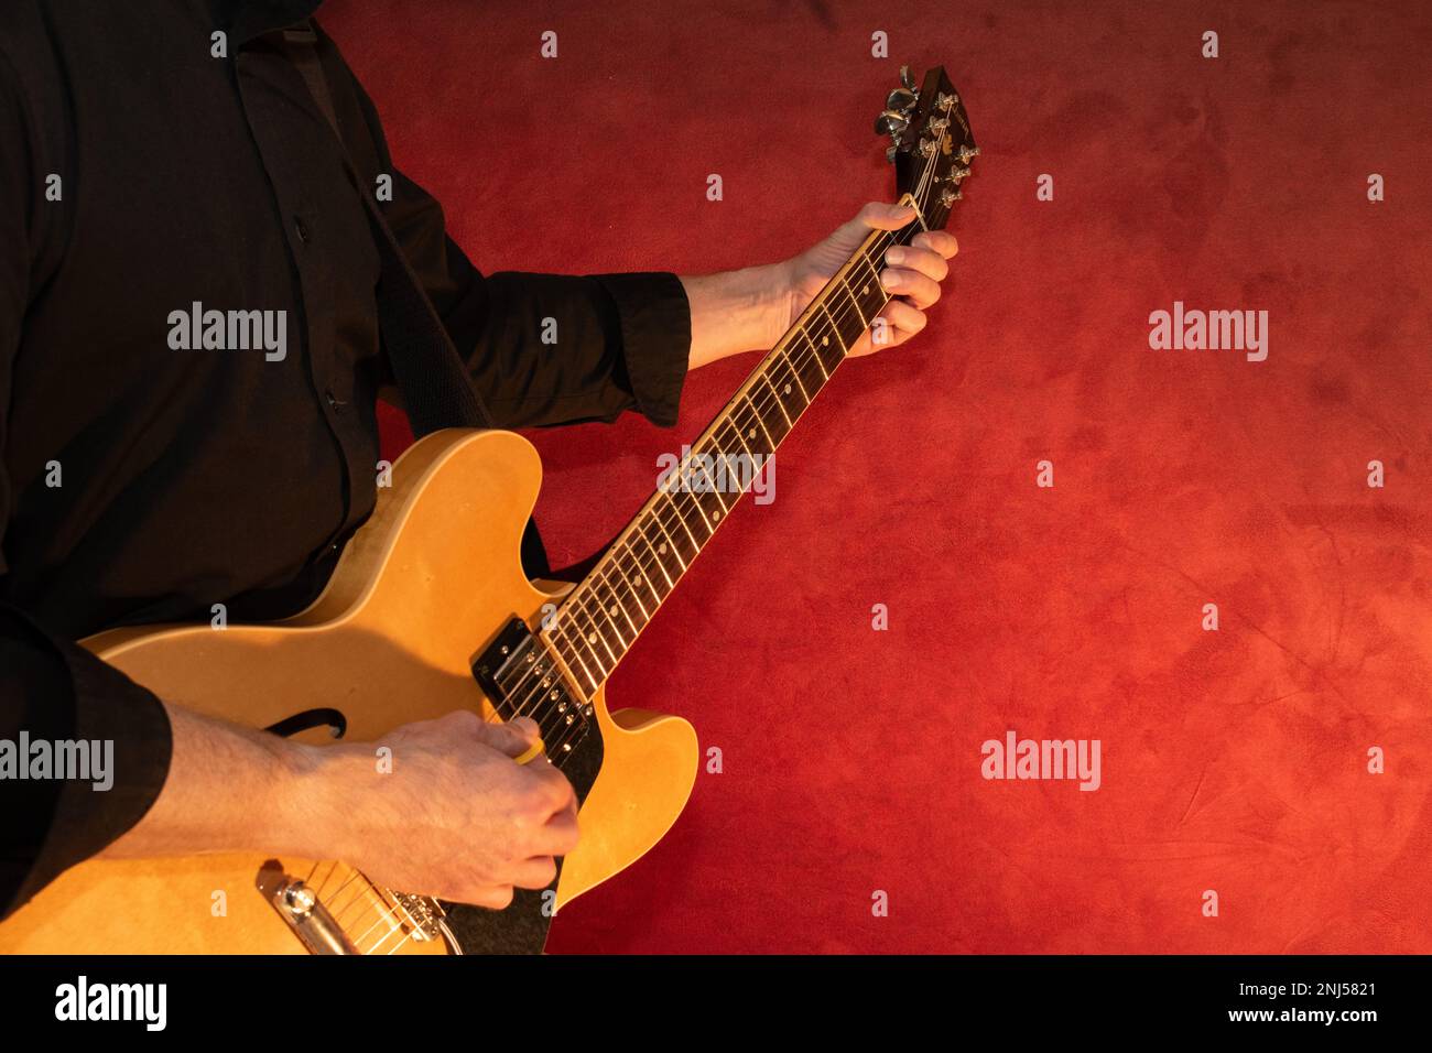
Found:
<path fill-rule="evenodd" d="M 722 274 L 680 275 L 692 308 L 687 368 L 775 344 L 790 318 L 789 268 L 789 262 L 780 262 Z"/>

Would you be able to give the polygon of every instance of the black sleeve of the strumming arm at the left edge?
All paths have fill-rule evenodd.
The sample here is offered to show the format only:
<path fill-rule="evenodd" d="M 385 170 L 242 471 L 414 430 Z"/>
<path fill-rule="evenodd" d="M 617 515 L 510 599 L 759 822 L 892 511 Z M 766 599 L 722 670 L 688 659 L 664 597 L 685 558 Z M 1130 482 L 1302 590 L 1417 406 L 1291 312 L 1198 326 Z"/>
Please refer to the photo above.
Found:
<path fill-rule="evenodd" d="M 20 76 L 0 50 L 0 595 L 13 501 L 4 457 L 10 377 L 47 229 L 37 173 L 57 170 L 36 129 Z M 77 739 L 112 744 L 107 789 L 54 772 L 23 778 L 40 769 L 21 746 Z M 0 603 L 0 917 L 135 825 L 159 795 L 169 749 L 159 699 Z"/>

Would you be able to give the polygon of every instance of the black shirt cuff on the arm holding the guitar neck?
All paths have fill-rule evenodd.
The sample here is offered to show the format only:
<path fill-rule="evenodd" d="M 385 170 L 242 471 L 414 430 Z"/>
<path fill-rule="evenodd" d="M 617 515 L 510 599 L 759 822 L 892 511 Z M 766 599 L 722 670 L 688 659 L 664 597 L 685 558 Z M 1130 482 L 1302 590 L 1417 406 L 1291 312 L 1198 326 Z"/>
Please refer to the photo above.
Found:
<path fill-rule="evenodd" d="M 621 357 L 636 408 L 653 424 L 676 424 L 692 352 L 686 287 L 664 271 L 591 275 L 617 307 Z"/>

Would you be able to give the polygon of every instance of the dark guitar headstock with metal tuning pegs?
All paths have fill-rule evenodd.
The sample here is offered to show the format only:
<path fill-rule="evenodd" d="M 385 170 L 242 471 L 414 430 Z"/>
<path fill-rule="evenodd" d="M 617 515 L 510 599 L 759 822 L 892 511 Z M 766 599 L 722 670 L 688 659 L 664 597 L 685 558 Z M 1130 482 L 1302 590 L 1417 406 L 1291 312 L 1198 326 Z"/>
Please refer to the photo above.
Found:
<path fill-rule="evenodd" d="M 959 183 L 969 175 L 979 148 L 944 66 L 925 73 L 918 89 L 909 66 L 901 66 L 899 77 L 901 86 L 889 93 L 885 110 L 875 119 L 875 132 L 891 136 L 885 158 L 895 163 L 896 193 L 909 193 L 925 225 L 939 228 L 959 201 Z"/>

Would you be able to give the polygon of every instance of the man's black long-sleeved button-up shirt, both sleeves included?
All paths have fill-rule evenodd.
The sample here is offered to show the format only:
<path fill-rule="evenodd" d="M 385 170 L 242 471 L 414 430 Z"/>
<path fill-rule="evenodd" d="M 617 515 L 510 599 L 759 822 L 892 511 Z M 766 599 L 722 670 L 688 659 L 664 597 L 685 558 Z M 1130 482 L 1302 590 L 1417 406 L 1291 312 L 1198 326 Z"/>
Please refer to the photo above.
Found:
<path fill-rule="evenodd" d="M 316 6 L 0 9 L 0 739 L 112 739 L 116 774 L 105 794 L 0 779 L 0 911 L 132 827 L 168 772 L 158 699 L 73 640 L 213 603 L 295 613 L 374 507 L 378 251 L 278 33 Z M 497 423 L 673 424 L 676 277 L 478 274 L 318 49 L 348 153 Z M 284 351 L 176 348 L 193 311 L 284 312 Z"/>

